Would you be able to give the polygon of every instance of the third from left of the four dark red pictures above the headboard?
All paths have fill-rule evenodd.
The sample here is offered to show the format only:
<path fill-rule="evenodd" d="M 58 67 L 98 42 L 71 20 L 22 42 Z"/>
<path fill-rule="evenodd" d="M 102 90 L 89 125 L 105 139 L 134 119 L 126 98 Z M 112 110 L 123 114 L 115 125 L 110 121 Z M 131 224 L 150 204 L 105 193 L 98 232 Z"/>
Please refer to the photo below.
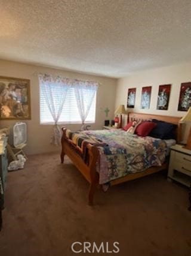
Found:
<path fill-rule="evenodd" d="M 159 85 L 157 109 L 167 110 L 170 99 L 171 85 Z"/>

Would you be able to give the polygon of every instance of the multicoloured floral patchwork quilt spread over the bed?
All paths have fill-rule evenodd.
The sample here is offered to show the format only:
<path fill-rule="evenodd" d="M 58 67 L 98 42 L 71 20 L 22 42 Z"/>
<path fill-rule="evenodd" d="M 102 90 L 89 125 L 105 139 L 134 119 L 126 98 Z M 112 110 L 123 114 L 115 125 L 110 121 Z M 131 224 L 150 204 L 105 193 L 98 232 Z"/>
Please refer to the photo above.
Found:
<path fill-rule="evenodd" d="M 73 137 L 77 144 L 82 141 L 79 137 L 96 143 L 100 152 L 100 162 L 97 164 L 100 184 L 152 166 L 160 166 L 165 161 L 167 144 L 164 140 L 139 137 L 122 129 L 82 131 L 80 134 L 72 133 L 68 137 Z"/>

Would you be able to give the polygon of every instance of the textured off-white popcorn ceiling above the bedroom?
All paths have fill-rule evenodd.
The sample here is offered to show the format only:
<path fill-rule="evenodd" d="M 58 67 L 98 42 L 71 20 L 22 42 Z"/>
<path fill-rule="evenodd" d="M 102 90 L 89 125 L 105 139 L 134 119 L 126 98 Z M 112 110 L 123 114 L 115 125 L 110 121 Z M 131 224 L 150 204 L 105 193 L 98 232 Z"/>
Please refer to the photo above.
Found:
<path fill-rule="evenodd" d="M 190 0 L 0 0 L 0 58 L 109 77 L 191 60 Z"/>

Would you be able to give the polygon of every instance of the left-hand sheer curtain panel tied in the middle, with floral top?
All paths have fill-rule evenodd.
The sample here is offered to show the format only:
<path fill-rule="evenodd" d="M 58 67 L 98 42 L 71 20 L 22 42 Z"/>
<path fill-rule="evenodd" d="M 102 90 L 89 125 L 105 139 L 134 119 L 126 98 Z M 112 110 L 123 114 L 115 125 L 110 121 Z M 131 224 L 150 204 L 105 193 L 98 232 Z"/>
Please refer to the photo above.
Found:
<path fill-rule="evenodd" d="M 61 141 L 61 129 L 58 127 L 57 122 L 60 118 L 70 85 L 67 81 L 62 81 L 60 77 L 54 78 L 47 74 L 39 74 L 39 83 L 41 85 L 41 92 L 44 95 L 48 109 L 54 120 L 51 144 L 58 146 Z"/>

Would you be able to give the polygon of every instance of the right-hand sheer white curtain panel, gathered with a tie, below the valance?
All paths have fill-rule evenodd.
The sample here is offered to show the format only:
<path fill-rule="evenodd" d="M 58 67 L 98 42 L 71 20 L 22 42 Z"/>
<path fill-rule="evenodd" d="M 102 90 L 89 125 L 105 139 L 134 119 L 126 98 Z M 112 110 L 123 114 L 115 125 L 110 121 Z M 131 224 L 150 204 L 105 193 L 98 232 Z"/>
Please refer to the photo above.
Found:
<path fill-rule="evenodd" d="M 74 85 L 76 103 L 78 106 L 79 115 L 81 116 L 82 128 L 84 129 L 85 119 L 93 103 L 93 99 L 97 92 L 98 85 L 95 82 L 78 82 Z"/>

